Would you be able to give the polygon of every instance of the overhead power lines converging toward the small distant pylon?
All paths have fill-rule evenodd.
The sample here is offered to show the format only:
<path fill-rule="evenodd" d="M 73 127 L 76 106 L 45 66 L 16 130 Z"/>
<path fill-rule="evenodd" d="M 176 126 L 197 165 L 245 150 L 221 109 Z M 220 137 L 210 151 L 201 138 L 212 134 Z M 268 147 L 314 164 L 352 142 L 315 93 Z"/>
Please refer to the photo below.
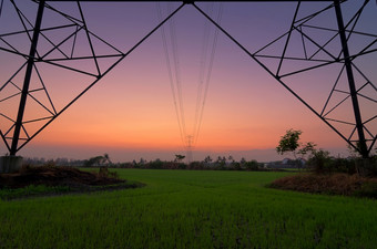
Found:
<path fill-rule="evenodd" d="M 170 11 L 171 6 L 166 7 L 166 11 Z M 214 11 L 214 4 L 211 3 L 208 6 L 208 13 L 212 14 Z M 162 19 L 163 9 L 160 3 L 157 3 L 157 15 L 159 19 Z M 217 9 L 216 20 L 221 22 L 223 13 L 223 6 L 220 4 Z M 196 106 L 195 106 L 195 121 L 192 133 L 187 133 L 186 127 L 186 118 L 185 118 L 185 110 L 183 103 L 183 94 L 182 94 L 182 79 L 181 79 L 181 65 L 180 65 L 180 54 L 179 54 L 179 44 L 177 44 L 177 35 L 175 29 L 174 19 L 169 21 L 169 34 L 166 35 L 166 30 L 162 27 L 162 40 L 163 40 L 163 50 L 165 54 L 165 63 L 169 73 L 169 80 L 171 84 L 171 90 L 173 94 L 173 102 L 176 118 L 179 122 L 181 139 L 183 142 L 183 146 L 187 152 L 188 163 L 192 158 L 192 149 L 197 143 L 197 137 L 201 128 L 201 124 L 203 121 L 204 106 L 206 103 L 206 96 L 208 93 L 212 69 L 214 64 L 214 58 L 216 52 L 216 45 L 218 40 L 218 30 L 214 31 L 213 41 L 211 40 L 211 28 L 208 22 L 205 22 L 205 28 L 203 32 L 203 43 L 202 43 L 202 53 L 200 61 L 200 73 L 198 73 L 198 84 L 197 84 L 197 95 L 196 95 Z M 171 45 L 171 52 L 169 49 L 169 42 Z M 188 158 L 190 157 L 190 158 Z"/>

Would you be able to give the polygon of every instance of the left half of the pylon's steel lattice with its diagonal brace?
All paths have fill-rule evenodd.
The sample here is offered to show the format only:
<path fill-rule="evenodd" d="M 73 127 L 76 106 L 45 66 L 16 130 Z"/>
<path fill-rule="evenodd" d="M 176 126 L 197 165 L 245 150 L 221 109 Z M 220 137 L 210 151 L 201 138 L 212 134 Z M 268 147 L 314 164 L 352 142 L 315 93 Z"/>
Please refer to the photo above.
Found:
<path fill-rule="evenodd" d="M 106 75 L 116 64 L 119 64 L 122 60 L 124 60 L 131 52 L 133 52 L 139 45 L 141 45 L 149 37 L 151 37 L 161 25 L 163 25 L 171 17 L 173 17 L 179 10 L 183 8 L 184 4 L 181 4 L 175 11 L 173 11 L 169 17 L 166 17 L 161 23 L 159 23 L 152 31 L 150 31 L 144 38 L 142 38 L 136 44 L 134 44 L 129 51 L 122 52 L 118 48 L 113 46 L 102 38 L 98 37 L 93 32 L 91 32 L 85 23 L 85 18 L 80 4 L 80 1 L 77 1 L 78 9 L 80 12 L 80 18 L 72 17 L 68 13 L 61 12 L 50 4 L 45 0 L 39 1 L 39 9 L 37 14 L 35 24 L 33 25 L 31 21 L 29 21 L 24 13 L 18 8 L 14 1 L 10 0 L 13 4 L 19 19 L 24 28 L 23 31 L 16 31 L 10 33 L 0 34 L 0 41 L 3 43 L 0 46 L 0 50 L 17 54 L 21 58 L 26 59 L 26 62 L 21 65 L 19 70 L 3 84 L 1 85 L 0 93 L 6 87 L 16 89 L 17 92 L 12 93 L 8 96 L 3 96 L 0 98 L 1 102 L 10 101 L 14 97 L 20 97 L 20 106 L 18 111 L 17 118 L 11 117 L 8 114 L 4 114 L 4 110 L 0 111 L 0 116 L 10 122 L 9 127 L 0 129 L 0 135 L 6 143 L 6 146 L 9 149 L 10 155 L 16 155 L 18 151 L 20 151 L 23 146 L 26 146 L 31 139 L 33 139 L 40 132 L 42 132 L 51 122 L 53 122 L 58 116 L 60 116 L 68 107 L 70 107 L 74 102 L 77 102 L 84 93 L 86 93 L 93 85 L 95 85 L 104 75 Z M 2 6 L 2 4 L 1 4 Z M 41 22 L 43 18 L 44 9 L 50 10 L 60 18 L 65 20 L 63 25 L 54 25 L 45 29 L 41 29 Z M 45 33 L 52 30 L 71 30 L 71 32 L 64 32 L 65 35 L 61 38 L 60 41 L 53 42 L 49 35 Z M 7 38 L 12 35 L 18 35 L 21 33 L 28 34 L 30 39 L 30 53 L 26 54 L 14 48 L 7 41 Z M 30 37 L 30 33 L 33 33 L 33 37 Z M 75 56 L 77 48 L 77 38 L 80 33 L 84 33 L 86 38 L 86 46 L 90 48 L 91 55 L 89 56 Z M 41 53 L 37 50 L 39 38 L 44 38 L 50 44 L 51 49 L 44 53 Z M 96 44 L 101 43 L 102 46 L 106 46 L 108 51 L 112 51 L 109 54 L 98 54 L 95 51 L 95 45 L 93 41 L 96 41 Z M 67 49 L 67 45 L 70 48 Z M 61 49 L 64 48 L 64 51 Z M 67 52 L 68 51 L 68 52 Z M 102 68 L 100 64 L 103 59 L 115 59 L 115 62 L 112 64 L 108 64 L 105 68 Z M 67 63 L 68 62 L 68 63 Z M 83 62 L 83 63 L 70 63 L 70 62 Z M 88 71 L 83 64 L 88 63 L 95 64 L 95 71 Z M 71 102 L 69 102 L 61 110 L 57 110 L 54 106 L 53 100 L 50 97 L 48 87 L 43 81 L 43 75 L 39 72 L 39 65 L 42 63 L 51 64 L 53 66 L 62 68 L 64 70 L 74 71 L 79 74 L 88 75 L 92 77 L 92 82 L 86 86 L 78 96 L 75 96 Z M 72 65 L 70 65 L 72 64 Z M 26 68 L 26 76 L 23 82 L 23 87 L 21 89 L 17 83 L 13 82 L 13 79 L 22 72 Z M 40 81 L 40 87 L 29 90 L 31 72 L 38 75 L 38 80 Z M 42 92 L 49 100 L 48 103 L 42 103 L 39 101 L 33 93 Z M 23 120 L 24 108 L 26 108 L 26 100 L 27 97 L 37 102 L 40 106 L 42 106 L 48 113 L 48 116 L 41 116 L 33 120 Z M 30 133 L 26 125 L 30 123 L 41 123 L 43 124 L 33 133 Z M 21 143 L 20 143 L 21 142 Z"/>

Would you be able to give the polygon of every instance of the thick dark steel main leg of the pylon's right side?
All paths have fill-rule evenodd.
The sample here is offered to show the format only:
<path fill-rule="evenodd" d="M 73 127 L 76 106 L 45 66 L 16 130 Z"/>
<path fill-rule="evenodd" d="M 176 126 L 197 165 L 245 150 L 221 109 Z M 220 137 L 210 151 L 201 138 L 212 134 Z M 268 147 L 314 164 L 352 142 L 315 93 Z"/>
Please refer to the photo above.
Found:
<path fill-rule="evenodd" d="M 350 93 L 350 97 L 353 101 L 354 115 L 355 115 L 355 121 L 356 121 L 356 129 L 358 133 L 359 144 L 358 144 L 357 149 L 361 154 L 363 158 L 368 158 L 369 153 L 368 153 L 365 134 L 364 134 L 364 125 L 361 121 L 360 107 L 359 107 L 358 100 L 357 100 L 357 91 L 355 86 L 351 60 L 349 59 L 349 50 L 348 50 L 347 38 L 346 38 L 345 27 L 343 22 L 339 0 L 334 0 L 334 6 L 335 6 L 336 19 L 338 22 L 339 37 L 340 37 L 340 42 L 342 42 L 343 55 L 344 55 L 344 63 L 346 66 L 346 72 L 347 72 L 347 77 L 348 77 L 349 93 Z"/>

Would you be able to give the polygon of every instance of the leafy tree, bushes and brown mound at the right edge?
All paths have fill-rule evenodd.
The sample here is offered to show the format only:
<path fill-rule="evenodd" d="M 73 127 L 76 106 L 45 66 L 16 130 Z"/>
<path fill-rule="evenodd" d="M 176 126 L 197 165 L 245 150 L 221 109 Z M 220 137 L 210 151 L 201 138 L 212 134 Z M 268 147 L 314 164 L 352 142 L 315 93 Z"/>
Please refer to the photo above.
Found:
<path fill-rule="evenodd" d="M 333 157 L 309 142 L 299 143 L 300 131 L 288 129 L 276 147 L 278 154 L 307 155 L 306 172 L 276 179 L 269 186 L 279 189 L 314 194 L 377 198 L 377 156 L 360 158 L 356 152 L 347 158 Z M 302 146 L 299 148 L 299 146 Z"/>

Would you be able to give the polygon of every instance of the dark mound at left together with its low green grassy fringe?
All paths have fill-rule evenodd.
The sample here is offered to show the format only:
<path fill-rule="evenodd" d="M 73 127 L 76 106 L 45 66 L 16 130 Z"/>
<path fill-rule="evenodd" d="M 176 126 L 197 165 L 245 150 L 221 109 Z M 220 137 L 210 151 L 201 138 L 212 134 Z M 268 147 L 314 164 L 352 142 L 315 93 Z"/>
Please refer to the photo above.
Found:
<path fill-rule="evenodd" d="M 109 172 L 108 167 L 100 167 L 99 173 L 95 173 L 64 166 L 23 166 L 18 173 L 0 175 L 0 198 L 114 190 L 139 186 L 141 185 L 120 179 L 116 172 Z"/>

